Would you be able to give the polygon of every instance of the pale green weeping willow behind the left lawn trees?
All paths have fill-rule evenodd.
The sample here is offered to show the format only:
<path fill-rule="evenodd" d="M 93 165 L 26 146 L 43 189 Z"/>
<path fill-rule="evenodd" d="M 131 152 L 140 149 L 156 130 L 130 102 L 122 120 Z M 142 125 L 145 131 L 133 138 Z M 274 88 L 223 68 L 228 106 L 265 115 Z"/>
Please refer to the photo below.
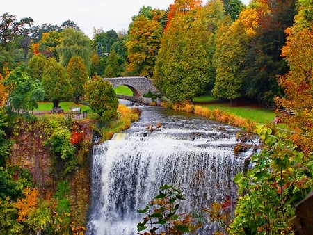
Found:
<path fill-rule="evenodd" d="M 83 32 L 72 28 L 66 28 L 62 31 L 62 38 L 56 50 L 63 67 L 67 67 L 73 56 L 81 56 L 86 65 L 88 74 L 90 74 L 91 56 L 93 54 L 90 39 L 83 35 Z"/>

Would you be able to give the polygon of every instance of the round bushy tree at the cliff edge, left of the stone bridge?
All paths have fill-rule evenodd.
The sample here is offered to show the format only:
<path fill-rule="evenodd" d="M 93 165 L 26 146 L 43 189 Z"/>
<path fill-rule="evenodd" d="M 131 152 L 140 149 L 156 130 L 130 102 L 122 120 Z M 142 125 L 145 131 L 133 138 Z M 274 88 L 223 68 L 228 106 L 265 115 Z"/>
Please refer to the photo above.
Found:
<path fill-rule="evenodd" d="M 109 81 L 96 76 L 83 87 L 91 110 L 100 116 L 102 122 L 107 123 L 118 117 L 118 98 Z"/>

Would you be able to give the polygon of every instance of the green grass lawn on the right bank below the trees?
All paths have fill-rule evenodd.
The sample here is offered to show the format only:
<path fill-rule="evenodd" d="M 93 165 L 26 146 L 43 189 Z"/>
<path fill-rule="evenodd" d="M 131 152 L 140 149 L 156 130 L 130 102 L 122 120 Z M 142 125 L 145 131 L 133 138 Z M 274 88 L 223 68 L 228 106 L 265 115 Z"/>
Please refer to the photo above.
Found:
<path fill-rule="evenodd" d="M 205 108 L 209 108 L 211 110 L 220 109 L 221 111 L 225 111 L 227 113 L 233 113 L 234 115 L 245 117 L 253 122 L 257 122 L 259 124 L 266 124 L 268 122 L 273 122 L 276 114 L 262 106 L 257 106 L 253 104 L 240 104 L 238 106 L 230 106 L 230 102 L 220 102 L 216 100 L 214 103 L 213 97 L 209 95 L 204 95 L 201 97 L 196 97 L 193 99 L 193 102 L 203 102 L 203 104 L 197 104 Z M 209 102 L 209 104 L 207 103 Z"/>

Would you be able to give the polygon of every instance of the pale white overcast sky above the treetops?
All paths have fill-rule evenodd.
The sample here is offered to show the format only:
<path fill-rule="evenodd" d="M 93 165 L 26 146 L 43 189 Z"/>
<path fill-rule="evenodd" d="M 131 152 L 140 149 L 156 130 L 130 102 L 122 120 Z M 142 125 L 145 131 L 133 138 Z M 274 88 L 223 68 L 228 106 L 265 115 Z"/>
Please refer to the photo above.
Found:
<path fill-rule="evenodd" d="M 241 1 L 248 5 L 250 0 Z M 94 28 L 104 32 L 127 31 L 131 17 L 138 15 L 142 6 L 166 10 L 172 3 L 174 0 L 6 0 L 1 1 L 0 15 L 15 15 L 17 21 L 31 17 L 34 25 L 39 26 L 61 26 L 70 19 L 92 39 Z"/>

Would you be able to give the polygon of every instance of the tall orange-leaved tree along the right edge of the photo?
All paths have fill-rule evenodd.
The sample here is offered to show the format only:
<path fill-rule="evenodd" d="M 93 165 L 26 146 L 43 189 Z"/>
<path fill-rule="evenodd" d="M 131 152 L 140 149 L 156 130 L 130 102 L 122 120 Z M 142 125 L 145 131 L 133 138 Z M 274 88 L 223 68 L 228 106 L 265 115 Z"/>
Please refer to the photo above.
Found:
<path fill-rule="evenodd" d="M 294 115 L 285 113 L 282 118 L 296 130 L 292 136 L 296 145 L 309 153 L 313 150 L 313 21 L 310 17 L 313 3 L 299 1 L 298 4 L 296 24 L 285 31 L 287 42 L 282 48 L 282 56 L 290 67 L 287 74 L 279 77 L 285 96 L 276 97 L 275 102 L 294 111 Z"/>

